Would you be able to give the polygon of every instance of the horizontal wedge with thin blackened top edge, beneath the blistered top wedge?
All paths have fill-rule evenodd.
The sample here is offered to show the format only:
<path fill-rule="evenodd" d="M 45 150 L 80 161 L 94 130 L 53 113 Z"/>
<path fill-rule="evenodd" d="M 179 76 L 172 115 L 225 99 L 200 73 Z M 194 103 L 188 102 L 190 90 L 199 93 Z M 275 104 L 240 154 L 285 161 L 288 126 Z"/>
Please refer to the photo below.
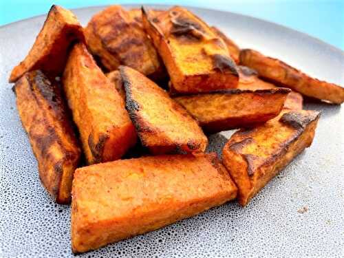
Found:
<path fill-rule="evenodd" d="M 290 89 L 228 89 L 174 98 L 207 132 L 248 127 L 275 118 Z"/>

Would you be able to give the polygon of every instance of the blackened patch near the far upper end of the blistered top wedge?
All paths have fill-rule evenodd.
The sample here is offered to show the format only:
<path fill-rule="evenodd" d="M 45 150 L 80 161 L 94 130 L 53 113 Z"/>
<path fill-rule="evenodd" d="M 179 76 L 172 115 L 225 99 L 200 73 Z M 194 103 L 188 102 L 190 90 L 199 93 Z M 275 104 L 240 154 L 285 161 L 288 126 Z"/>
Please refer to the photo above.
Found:
<path fill-rule="evenodd" d="M 204 36 L 204 29 L 200 23 L 171 12 L 171 34 L 174 36 L 185 36 L 189 39 L 196 39 L 197 41 L 202 39 Z"/>

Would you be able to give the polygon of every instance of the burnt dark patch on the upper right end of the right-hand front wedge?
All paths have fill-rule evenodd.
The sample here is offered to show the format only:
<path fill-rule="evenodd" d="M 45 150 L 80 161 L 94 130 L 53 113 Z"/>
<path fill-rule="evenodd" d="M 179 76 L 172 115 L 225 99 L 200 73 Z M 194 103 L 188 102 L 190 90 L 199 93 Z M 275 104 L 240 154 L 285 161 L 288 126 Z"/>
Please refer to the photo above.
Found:
<path fill-rule="evenodd" d="M 294 129 L 305 129 L 310 122 L 319 118 L 320 112 L 314 111 L 311 114 L 302 114 L 298 111 L 290 111 L 279 119 L 280 122 L 283 122 L 286 125 L 294 127 Z"/>

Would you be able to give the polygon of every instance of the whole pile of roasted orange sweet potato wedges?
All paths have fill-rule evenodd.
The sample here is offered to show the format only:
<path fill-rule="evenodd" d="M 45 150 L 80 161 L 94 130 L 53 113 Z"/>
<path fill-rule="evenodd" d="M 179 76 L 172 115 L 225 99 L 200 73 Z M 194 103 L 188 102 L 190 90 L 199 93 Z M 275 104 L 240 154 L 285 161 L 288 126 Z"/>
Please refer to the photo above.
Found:
<path fill-rule="evenodd" d="M 52 6 L 10 74 L 45 189 L 85 252 L 235 200 L 310 147 L 344 89 L 239 47 L 189 10 L 110 6 L 86 28 Z M 239 129 L 222 158 L 205 133 Z"/>

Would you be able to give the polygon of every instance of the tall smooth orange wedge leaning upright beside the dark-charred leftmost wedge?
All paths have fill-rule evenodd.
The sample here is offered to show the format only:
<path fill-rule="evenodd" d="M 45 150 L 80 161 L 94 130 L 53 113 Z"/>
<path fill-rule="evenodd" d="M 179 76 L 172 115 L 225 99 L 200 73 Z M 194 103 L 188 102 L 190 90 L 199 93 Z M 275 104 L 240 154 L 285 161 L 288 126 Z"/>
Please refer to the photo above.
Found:
<path fill-rule="evenodd" d="M 89 164 L 117 160 L 135 144 L 124 100 L 82 43 L 69 54 L 63 87 Z"/>

